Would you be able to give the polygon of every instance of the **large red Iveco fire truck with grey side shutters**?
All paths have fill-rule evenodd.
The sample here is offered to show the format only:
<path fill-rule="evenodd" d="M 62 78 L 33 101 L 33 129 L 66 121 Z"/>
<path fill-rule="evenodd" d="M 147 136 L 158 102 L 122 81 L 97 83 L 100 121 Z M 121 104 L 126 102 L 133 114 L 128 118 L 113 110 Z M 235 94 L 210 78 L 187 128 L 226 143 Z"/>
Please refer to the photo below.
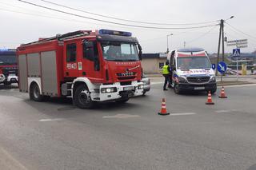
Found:
<path fill-rule="evenodd" d="M 90 109 L 97 101 L 122 103 L 143 93 L 142 48 L 130 32 L 57 34 L 22 44 L 17 53 L 19 89 L 34 101 L 71 97 Z"/>

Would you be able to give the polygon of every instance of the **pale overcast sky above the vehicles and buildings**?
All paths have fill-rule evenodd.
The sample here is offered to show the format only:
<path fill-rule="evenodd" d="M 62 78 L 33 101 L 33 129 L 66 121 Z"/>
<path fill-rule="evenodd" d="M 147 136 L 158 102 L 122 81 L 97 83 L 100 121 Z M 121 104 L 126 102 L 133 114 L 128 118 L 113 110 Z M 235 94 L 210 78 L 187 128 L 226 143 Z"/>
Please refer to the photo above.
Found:
<path fill-rule="evenodd" d="M 49 6 L 58 10 L 65 10 L 72 14 L 80 14 L 86 17 L 103 19 L 111 22 L 120 22 L 142 26 L 139 23 L 122 22 L 109 18 L 100 18 L 91 14 L 85 14 L 75 10 L 67 10 L 62 7 L 50 5 L 40 0 L 26 0 L 43 6 Z M 164 23 L 194 23 L 211 22 L 219 19 L 230 18 L 227 21 L 230 26 L 241 30 L 238 32 L 225 25 L 225 34 L 228 40 L 248 39 L 248 48 L 242 52 L 252 52 L 256 49 L 256 1 L 255 0 L 49 0 L 65 6 L 90 11 L 96 14 L 108 15 L 115 18 L 124 18 L 142 22 Z M 202 47 L 210 53 L 218 49 L 219 26 L 206 27 L 191 30 L 153 30 L 118 26 L 110 23 L 92 21 L 78 18 L 68 14 L 44 10 L 36 6 L 30 6 L 18 0 L 0 0 L 0 48 L 16 48 L 20 43 L 35 41 L 38 38 L 51 37 L 55 34 L 65 34 L 74 30 L 111 29 L 124 30 L 133 33 L 138 38 L 143 48 L 143 53 L 166 52 L 166 35 L 169 37 L 170 49 L 186 47 Z M 217 24 L 217 22 L 205 25 Z M 145 25 L 144 25 L 145 26 Z M 147 25 L 150 26 L 150 25 Z M 151 25 L 152 26 L 152 25 Z M 165 26 L 158 26 L 165 27 Z M 175 26 L 166 26 L 175 27 Z M 186 27 L 186 26 L 178 26 Z M 225 51 L 231 52 L 233 47 Z"/>

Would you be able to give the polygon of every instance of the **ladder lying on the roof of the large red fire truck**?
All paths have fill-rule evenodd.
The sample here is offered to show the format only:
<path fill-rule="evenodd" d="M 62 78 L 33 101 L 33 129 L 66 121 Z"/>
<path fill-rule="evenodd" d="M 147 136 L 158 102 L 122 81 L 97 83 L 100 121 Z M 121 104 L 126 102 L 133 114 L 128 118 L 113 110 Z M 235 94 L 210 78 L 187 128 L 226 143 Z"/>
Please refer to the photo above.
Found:
<path fill-rule="evenodd" d="M 51 37 L 51 38 L 43 38 L 39 41 L 30 42 L 30 43 L 22 44 L 22 45 L 38 44 L 38 43 L 42 43 L 42 42 L 49 42 L 52 40 L 63 41 L 63 40 L 70 39 L 70 38 L 78 38 L 78 37 L 82 37 L 85 35 L 89 35 L 90 32 L 91 32 L 90 30 L 78 30 L 78 31 L 67 33 L 67 34 L 57 34 L 56 36 Z"/>

